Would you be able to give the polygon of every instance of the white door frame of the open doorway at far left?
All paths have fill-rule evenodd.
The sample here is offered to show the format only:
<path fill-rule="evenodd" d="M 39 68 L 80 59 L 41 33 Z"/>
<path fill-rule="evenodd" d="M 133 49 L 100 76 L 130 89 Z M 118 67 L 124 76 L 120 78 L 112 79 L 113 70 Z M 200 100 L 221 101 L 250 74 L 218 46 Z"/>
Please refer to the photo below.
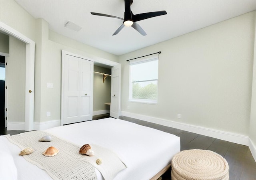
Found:
<path fill-rule="evenodd" d="M 10 130 L 32 131 L 34 130 L 35 42 L 2 22 L 0 22 L 0 30 L 26 43 L 25 127 Z"/>

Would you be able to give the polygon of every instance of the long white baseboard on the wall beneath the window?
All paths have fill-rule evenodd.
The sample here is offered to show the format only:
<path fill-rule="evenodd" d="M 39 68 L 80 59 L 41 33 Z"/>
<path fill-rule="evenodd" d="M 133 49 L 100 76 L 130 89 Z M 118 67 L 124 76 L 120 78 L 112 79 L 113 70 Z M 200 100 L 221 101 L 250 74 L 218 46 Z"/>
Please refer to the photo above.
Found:
<path fill-rule="evenodd" d="M 172 127 L 172 128 L 176 128 L 176 129 L 181 129 L 183 131 L 189 131 L 192 133 L 196 133 L 196 134 L 200 134 L 200 135 L 204 135 L 204 136 L 210 136 L 213 138 L 218 138 L 221 140 L 226 140 L 229 142 L 234 142 L 234 143 L 242 144 L 242 145 L 246 145 L 246 146 L 249 146 L 249 144 L 250 144 L 250 138 L 248 136 L 244 136 L 244 135 L 237 135 L 234 133 L 228 133 L 228 132 L 224 132 L 224 131 L 218 131 L 218 130 L 214 130 L 214 129 L 208 129 L 208 128 L 204 128 L 204 127 L 198 127 L 198 126 L 194 126 L 194 125 L 188 125 L 185 123 L 178 123 L 178 122 L 169 121 L 166 119 L 149 117 L 149 116 L 124 112 L 124 111 L 122 111 L 122 116 L 140 119 L 142 121 L 148 121 L 150 123 L 156 123 L 159 125 Z"/>

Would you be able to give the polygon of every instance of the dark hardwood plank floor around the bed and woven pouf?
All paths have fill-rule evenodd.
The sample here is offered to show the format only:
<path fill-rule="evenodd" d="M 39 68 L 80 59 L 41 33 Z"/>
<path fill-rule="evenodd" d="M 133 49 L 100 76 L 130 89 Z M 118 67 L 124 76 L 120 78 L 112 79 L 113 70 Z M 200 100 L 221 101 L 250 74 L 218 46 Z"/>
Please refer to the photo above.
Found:
<path fill-rule="evenodd" d="M 109 114 L 94 116 L 93 120 L 109 117 Z M 223 156 L 229 165 L 230 180 L 256 180 L 256 162 L 248 146 L 190 133 L 138 119 L 120 116 L 119 119 L 151 127 L 180 137 L 180 150 L 205 149 L 212 150 Z M 24 131 L 6 131 L 0 129 L 0 135 L 14 135 Z M 170 172 L 162 176 L 162 180 L 170 180 Z"/>

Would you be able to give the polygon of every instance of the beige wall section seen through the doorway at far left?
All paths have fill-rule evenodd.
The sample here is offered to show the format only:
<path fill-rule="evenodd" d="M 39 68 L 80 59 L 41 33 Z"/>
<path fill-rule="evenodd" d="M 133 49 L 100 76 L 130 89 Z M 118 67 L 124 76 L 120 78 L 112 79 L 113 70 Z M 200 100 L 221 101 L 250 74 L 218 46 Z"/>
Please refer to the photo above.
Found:
<path fill-rule="evenodd" d="M 10 36 L 7 64 L 8 122 L 25 121 L 26 44 Z"/>

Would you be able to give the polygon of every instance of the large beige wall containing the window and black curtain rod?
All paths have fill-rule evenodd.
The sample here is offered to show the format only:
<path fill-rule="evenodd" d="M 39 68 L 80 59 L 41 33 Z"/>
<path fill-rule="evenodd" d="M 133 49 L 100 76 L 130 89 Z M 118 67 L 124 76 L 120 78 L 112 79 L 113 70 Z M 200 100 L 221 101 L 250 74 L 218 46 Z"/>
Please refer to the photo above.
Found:
<path fill-rule="evenodd" d="M 254 32 L 255 11 L 119 56 L 122 111 L 248 135 Z M 126 59 L 157 51 L 158 104 L 128 102 Z"/>

